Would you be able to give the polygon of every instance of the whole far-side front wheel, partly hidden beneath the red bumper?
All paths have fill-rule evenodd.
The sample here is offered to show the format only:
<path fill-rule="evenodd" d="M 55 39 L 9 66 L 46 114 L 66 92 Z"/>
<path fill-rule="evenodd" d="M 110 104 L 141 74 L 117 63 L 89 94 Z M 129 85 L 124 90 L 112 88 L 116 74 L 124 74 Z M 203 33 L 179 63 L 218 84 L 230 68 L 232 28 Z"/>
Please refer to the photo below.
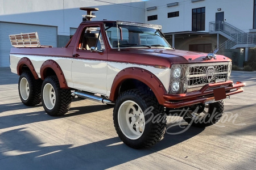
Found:
<path fill-rule="evenodd" d="M 192 126 L 204 128 L 216 124 L 224 113 L 224 101 L 199 104 L 188 108 L 184 120 Z"/>

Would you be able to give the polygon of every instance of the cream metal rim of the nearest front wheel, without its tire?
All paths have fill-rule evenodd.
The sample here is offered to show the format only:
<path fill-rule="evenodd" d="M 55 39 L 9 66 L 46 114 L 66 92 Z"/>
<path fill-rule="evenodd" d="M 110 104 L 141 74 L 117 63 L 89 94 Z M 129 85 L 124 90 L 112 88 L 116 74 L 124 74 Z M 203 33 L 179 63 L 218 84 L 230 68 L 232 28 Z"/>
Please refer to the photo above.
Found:
<path fill-rule="evenodd" d="M 127 100 L 119 107 L 118 124 L 122 133 L 129 139 L 138 139 L 145 129 L 145 118 L 141 107 Z"/>

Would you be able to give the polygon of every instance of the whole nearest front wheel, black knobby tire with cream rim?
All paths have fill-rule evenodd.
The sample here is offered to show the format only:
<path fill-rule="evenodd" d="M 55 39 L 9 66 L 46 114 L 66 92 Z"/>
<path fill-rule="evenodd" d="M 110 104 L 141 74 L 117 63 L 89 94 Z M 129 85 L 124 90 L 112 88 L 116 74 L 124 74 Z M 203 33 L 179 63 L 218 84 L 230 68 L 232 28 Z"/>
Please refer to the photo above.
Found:
<path fill-rule="evenodd" d="M 113 119 L 119 138 L 133 148 L 155 145 L 166 129 L 163 106 L 155 97 L 139 90 L 128 90 L 118 97 Z"/>

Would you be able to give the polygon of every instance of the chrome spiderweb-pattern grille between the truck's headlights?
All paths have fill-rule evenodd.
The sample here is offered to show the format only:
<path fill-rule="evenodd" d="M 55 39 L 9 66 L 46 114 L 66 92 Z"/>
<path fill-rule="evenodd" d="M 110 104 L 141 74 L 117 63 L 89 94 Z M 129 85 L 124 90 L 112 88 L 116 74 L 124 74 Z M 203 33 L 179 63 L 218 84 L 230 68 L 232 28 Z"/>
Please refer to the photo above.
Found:
<path fill-rule="evenodd" d="M 225 63 L 202 63 L 188 65 L 188 86 L 187 88 L 201 87 L 208 83 L 225 82 L 230 78 L 231 62 Z M 213 68 L 213 75 L 210 80 L 207 78 L 207 69 Z"/>

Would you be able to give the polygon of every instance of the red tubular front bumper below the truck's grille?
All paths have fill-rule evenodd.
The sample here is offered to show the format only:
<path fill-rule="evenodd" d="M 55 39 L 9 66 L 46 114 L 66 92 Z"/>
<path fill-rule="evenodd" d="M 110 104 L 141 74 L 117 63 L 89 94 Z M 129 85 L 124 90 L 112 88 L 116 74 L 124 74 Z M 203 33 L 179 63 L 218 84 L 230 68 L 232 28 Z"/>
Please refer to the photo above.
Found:
<path fill-rule="evenodd" d="M 206 103 L 214 101 L 214 88 L 225 88 L 226 97 L 230 95 L 238 94 L 243 92 L 243 86 L 245 83 L 237 82 L 233 84 L 233 81 L 229 80 L 226 82 L 206 84 L 199 91 L 189 92 L 187 94 L 164 94 L 163 98 L 164 107 L 166 108 L 181 108 L 199 103 Z"/>

